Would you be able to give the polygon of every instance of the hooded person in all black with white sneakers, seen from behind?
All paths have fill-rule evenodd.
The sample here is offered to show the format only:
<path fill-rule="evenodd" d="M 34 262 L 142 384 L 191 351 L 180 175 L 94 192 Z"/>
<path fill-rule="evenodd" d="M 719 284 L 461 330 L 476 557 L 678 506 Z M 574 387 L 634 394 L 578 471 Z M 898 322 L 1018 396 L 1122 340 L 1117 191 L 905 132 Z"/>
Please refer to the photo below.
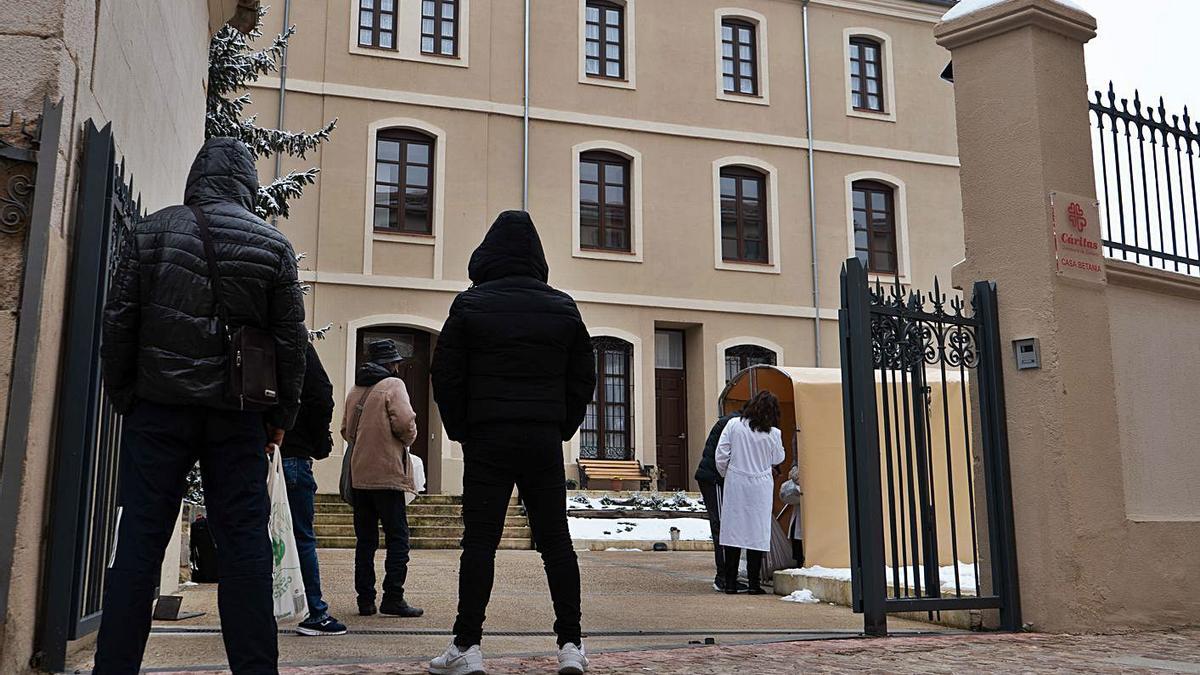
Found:
<path fill-rule="evenodd" d="M 578 675 L 588 661 L 563 443 L 583 423 L 595 389 L 592 339 L 575 300 L 547 283 L 529 214 L 500 214 L 468 273 L 473 286 L 455 298 L 432 364 L 442 422 L 463 448 L 464 534 L 455 638 L 430 671 L 484 673 L 484 617 L 515 485 L 550 583 L 559 673 Z"/>

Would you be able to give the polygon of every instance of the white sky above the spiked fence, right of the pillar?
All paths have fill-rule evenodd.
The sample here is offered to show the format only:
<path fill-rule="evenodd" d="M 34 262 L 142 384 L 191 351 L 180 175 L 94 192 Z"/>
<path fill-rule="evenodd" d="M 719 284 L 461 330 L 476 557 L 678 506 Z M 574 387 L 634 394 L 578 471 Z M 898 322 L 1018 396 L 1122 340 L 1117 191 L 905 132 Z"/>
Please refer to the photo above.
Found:
<path fill-rule="evenodd" d="M 1142 104 L 1158 97 L 1168 113 L 1182 114 L 1187 104 L 1200 117 L 1200 0 L 1075 0 L 1097 23 L 1097 36 L 1087 44 L 1087 82 L 1117 98 L 1133 100 L 1136 88 Z"/>

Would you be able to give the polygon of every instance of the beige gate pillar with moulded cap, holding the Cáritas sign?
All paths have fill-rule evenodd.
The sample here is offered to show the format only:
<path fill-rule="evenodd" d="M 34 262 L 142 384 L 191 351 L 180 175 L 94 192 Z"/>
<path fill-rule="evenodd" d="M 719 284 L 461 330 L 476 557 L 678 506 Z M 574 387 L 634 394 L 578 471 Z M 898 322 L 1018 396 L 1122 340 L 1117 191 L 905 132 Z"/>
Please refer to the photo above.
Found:
<path fill-rule="evenodd" d="M 1096 197 L 1084 71 L 1096 20 L 1003 0 L 935 35 L 953 54 L 962 167 L 954 282 L 998 288 L 1022 619 L 1111 627 L 1128 542 L 1106 286 L 1103 273 L 1058 274 L 1049 205 L 1051 192 Z M 1021 338 L 1040 341 L 1040 369 L 1016 370 Z"/>

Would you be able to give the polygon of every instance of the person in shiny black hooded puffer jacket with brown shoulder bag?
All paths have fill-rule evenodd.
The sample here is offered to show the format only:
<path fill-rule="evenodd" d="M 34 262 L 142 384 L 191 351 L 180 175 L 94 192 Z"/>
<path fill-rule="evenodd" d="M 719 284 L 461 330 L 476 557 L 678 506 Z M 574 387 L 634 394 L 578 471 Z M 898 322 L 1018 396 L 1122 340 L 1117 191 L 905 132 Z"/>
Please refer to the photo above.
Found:
<path fill-rule="evenodd" d="M 184 205 L 138 222 L 120 250 L 101 358 L 104 388 L 125 414 L 121 518 L 104 579 L 98 675 L 140 668 L 163 555 L 197 460 L 220 554 L 217 604 L 229 668 L 238 675 L 277 671 L 264 448 L 277 446 L 295 422 L 308 334 L 295 252 L 254 215 L 257 196 L 250 149 L 235 138 L 209 139 L 187 177 Z M 210 274 L 209 249 L 218 279 Z M 218 317 L 274 338 L 275 405 L 230 396 Z"/>

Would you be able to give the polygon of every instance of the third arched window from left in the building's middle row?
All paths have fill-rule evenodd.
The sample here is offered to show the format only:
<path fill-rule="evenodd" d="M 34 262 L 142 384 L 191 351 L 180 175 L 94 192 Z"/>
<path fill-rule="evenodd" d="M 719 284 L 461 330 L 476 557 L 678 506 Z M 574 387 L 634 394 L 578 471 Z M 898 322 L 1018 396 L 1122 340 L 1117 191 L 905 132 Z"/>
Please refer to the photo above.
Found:
<path fill-rule="evenodd" d="M 767 175 L 744 167 L 721 168 L 721 258 L 767 263 Z"/>

